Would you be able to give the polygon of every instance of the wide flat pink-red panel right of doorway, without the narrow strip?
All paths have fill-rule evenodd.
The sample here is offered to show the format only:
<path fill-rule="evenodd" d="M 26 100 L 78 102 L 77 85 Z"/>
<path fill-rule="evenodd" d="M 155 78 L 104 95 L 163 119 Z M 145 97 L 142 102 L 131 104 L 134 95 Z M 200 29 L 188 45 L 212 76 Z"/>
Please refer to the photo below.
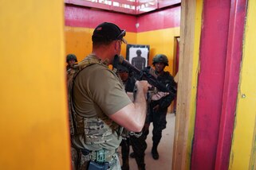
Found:
<path fill-rule="evenodd" d="M 191 169 L 215 169 L 230 17 L 230 1 L 205 0 Z"/>

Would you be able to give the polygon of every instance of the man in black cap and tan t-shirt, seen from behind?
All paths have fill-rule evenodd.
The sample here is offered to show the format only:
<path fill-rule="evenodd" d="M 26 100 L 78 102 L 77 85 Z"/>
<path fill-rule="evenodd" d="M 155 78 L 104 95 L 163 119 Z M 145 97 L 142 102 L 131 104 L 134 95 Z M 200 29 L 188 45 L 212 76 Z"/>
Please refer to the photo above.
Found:
<path fill-rule="evenodd" d="M 140 132 L 146 118 L 147 81 L 136 82 L 136 99 L 125 93 L 116 73 L 108 68 L 114 56 L 120 55 L 125 30 L 104 22 L 93 32 L 93 52 L 79 64 L 87 64 L 73 83 L 72 147 L 79 153 L 77 169 L 103 167 L 120 169 L 116 149 L 122 127 Z M 78 64 L 78 65 L 79 65 Z M 75 161 L 75 160 L 73 160 Z"/>

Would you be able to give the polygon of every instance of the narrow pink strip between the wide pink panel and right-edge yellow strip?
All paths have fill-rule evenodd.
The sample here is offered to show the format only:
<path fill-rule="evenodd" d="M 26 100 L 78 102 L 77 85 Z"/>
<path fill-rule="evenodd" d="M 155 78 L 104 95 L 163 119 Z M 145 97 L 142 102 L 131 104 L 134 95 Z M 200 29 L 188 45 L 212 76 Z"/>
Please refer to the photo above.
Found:
<path fill-rule="evenodd" d="M 234 128 L 234 116 L 238 96 L 238 81 L 242 60 L 246 0 L 231 2 L 228 42 L 226 52 L 226 71 L 223 89 L 223 107 L 219 128 L 219 141 L 215 169 L 228 169 L 230 147 Z"/>

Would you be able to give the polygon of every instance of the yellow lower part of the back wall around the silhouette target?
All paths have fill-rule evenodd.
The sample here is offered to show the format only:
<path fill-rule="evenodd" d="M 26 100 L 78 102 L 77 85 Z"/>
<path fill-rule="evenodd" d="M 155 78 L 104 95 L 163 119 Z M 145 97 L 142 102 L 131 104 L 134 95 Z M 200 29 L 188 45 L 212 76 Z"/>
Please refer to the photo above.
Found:
<path fill-rule="evenodd" d="M 73 53 L 80 61 L 92 52 L 93 29 L 65 26 L 65 55 Z M 179 37 L 179 27 L 171 29 L 160 29 L 144 33 L 126 33 L 124 37 L 128 44 L 149 44 L 149 65 L 152 58 L 158 53 L 167 55 L 169 67 L 167 71 L 173 73 L 173 53 L 175 37 Z M 126 44 L 122 44 L 122 56 L 126 56 Z"/>

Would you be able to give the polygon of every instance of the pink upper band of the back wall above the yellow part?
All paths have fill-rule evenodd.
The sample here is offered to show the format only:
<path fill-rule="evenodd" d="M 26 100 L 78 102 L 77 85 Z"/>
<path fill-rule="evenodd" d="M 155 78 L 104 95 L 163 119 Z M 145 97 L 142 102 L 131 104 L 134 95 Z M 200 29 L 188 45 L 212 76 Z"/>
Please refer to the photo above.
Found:
<path fill-rule="evenodd" d="M 65 25 L 95 28 L 101 22 L 109 21 L 128 32 L 140 33 L 157 29 L 179 27 L 180 6 L 144 14 L 139 17 L 128 14 L 113 13 L 104 10 L 90 10 L 82 6 L 65 6 Z M 136 29 L 136 23 L 140 26 Z"/>

